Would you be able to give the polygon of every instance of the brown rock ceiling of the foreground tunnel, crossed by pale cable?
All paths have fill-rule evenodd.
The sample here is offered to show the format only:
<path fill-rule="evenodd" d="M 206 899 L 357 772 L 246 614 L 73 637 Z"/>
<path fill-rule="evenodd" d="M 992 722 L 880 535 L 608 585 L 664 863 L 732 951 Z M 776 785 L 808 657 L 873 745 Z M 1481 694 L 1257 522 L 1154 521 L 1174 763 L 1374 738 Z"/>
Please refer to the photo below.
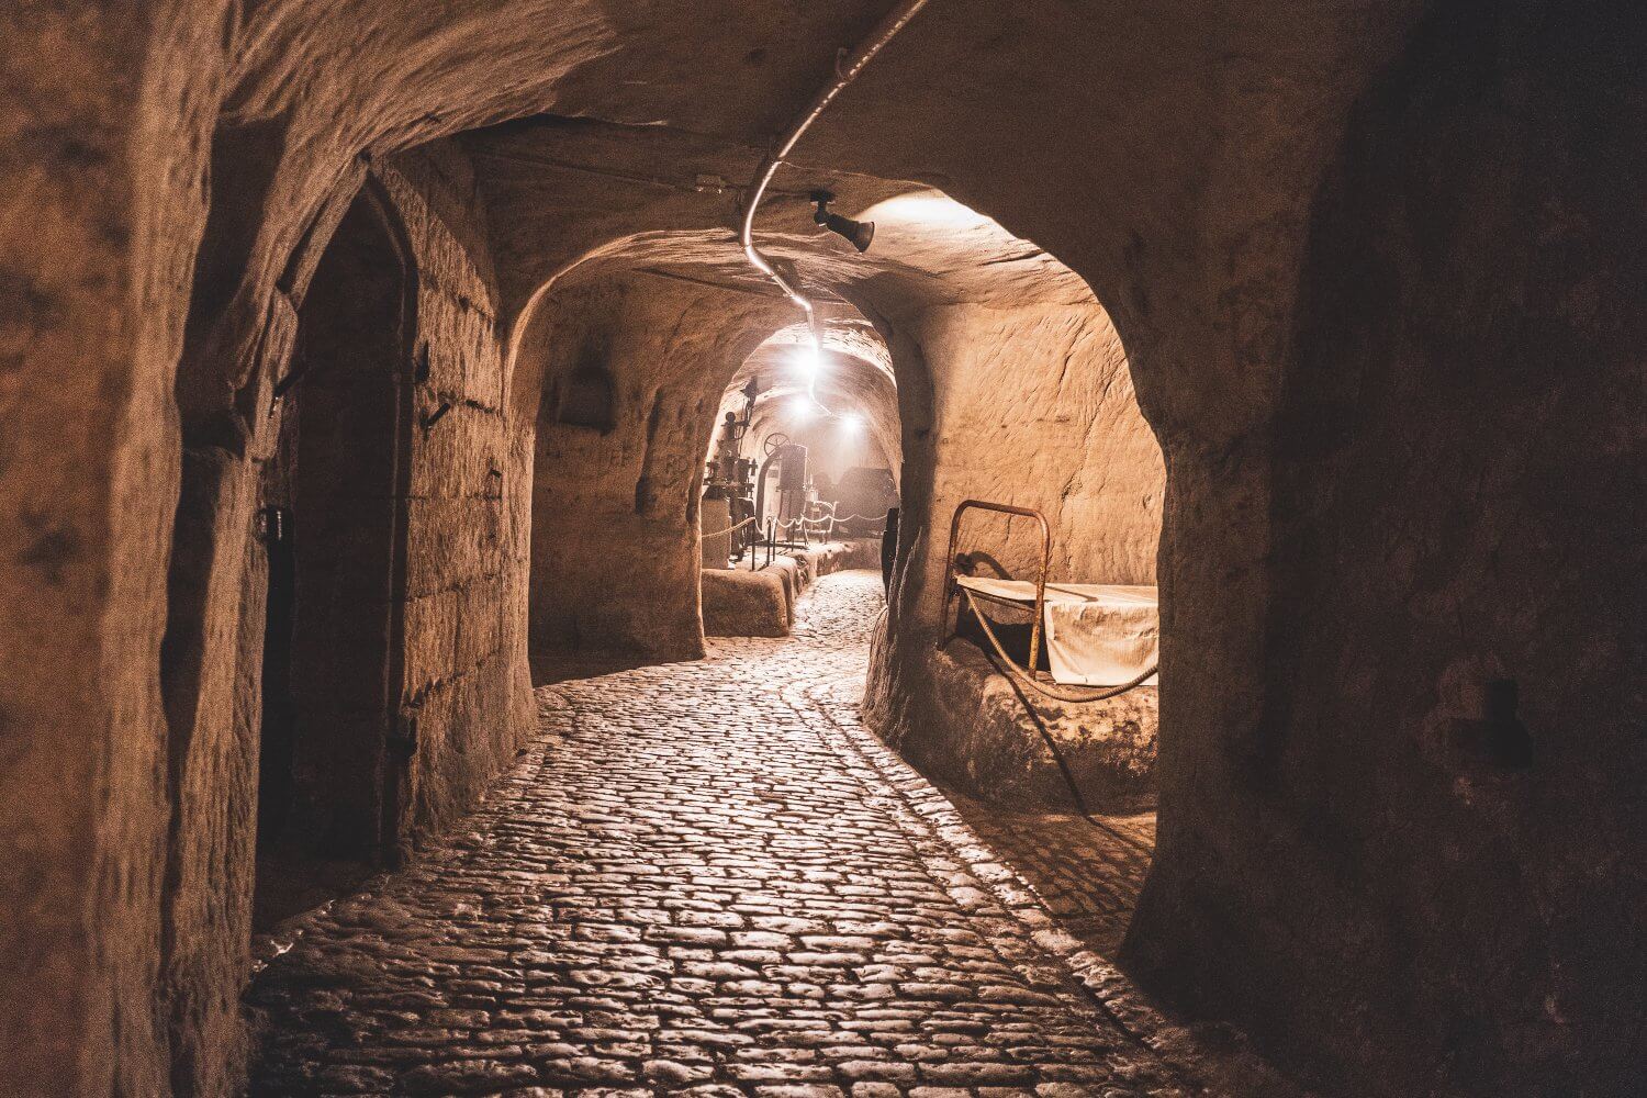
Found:
<path fill-rule="evenodd" d="M 280 166 L 245 280 L 277 283 L 305 226 L 361 155 L 511 120 L 509 133 L 478 140 L 516 161 L 476 155 L 479 191 L 504 229 L 494 237 L 506 323 L 557 272 L 614 240 L 690 232 L 710 250 L 715 234 L 736 224 L 738 193 L 693 189 L 700 170 L 746 181 L 832 79 L 837 51 L 889 7 L 237 7 L 221 16 L 222 84 L 203 58 L 201 94 L 224 99 L 227 127 L 278 130 L 270 145 Z M 812 237 L 804 193 L 827 184 L 853 211 L 940 188 L 1087 280 L 1128 347 L 1143 352 L 1140 393 L 1156 400 L 1158 415 L 1239 430 L 1263 415 L 1273 392 L 1291 331 L 1291 298 L 1276 288 L 1296 281 L 1311 202 L 1349 105 L 1430 7 L 934 0 L 807 135 L 794 156 L 800 166 L 781 173 L 781 193 L 763 211 L 763 230 L 794 237 L 776 239 L 776 250 L 794 252 L 787 258 L 802 263 L 814 291 L 896 311 L 940 296 L 927 285 L 934 272 L 903 263 L 840 285 L 828 265 L 809 268 L 799 255 Z M 544 125 L 545 115 L 558 122 Z M 563 168 L 530 163 L 581 158 L 590 142 L 611 151 L 593 166 L 657 183 L 590 176 L 573 186 Z M 550 173 L 560 178 L 545 184 Z M 937 283 L 954 288 L 942 275 Z M 1211 354 L 1209 337 L 1232 328 L 1242 333 L 1234 351 Z"/>

